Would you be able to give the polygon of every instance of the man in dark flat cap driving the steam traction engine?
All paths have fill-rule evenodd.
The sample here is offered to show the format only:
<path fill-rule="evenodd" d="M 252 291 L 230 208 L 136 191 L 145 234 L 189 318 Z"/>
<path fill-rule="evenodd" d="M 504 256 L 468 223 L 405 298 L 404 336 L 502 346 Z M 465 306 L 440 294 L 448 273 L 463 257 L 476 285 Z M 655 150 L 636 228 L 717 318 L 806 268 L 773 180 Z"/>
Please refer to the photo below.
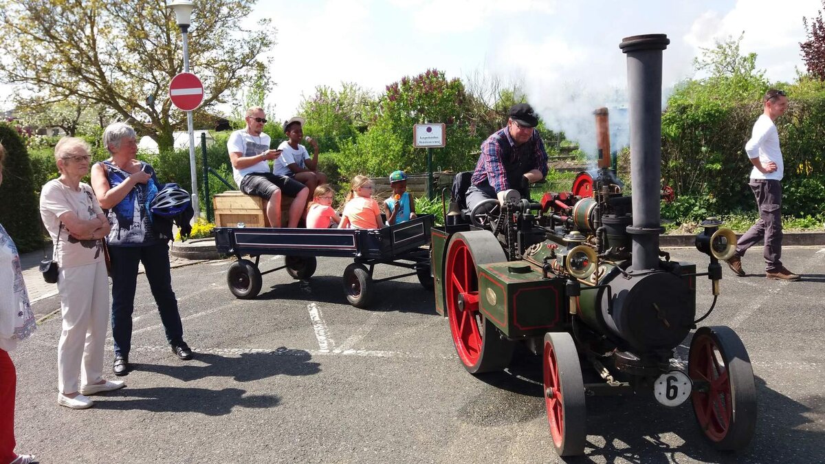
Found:
<path fill-rule="evenodd" d="M 491 198 L 503 203 L 504 192 L 510 189 L 527 198 L 528 182 L 538 182 L 547 175 L 547 152 L 536 125 L 539 119 L 533 108 L 519 103 L 510 108 L 507 126 L 484 140 L 467 189 L 469 209 Z"/>

